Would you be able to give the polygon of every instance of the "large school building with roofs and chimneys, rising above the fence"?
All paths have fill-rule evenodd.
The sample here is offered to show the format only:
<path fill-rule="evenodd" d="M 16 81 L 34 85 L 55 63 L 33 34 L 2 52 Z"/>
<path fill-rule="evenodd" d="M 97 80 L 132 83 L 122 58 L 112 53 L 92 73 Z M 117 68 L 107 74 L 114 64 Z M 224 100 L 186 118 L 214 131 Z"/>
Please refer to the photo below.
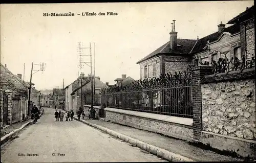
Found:
<path fill-rule="evenodd" d="M 189 64 L 200 65 L 209 62 L 211 58 L 238 57 L 247 60 L 254 56 L 254 6 L 228 21 L 232 25 L 225 28 L 222 22 L 217 26 L 217 32 L 198 39 L 177 39 L 175 21 L 173 22 L 170 40 L 160 48 L 142 58 L 140 79 L 158 77 L 160 74 L 186 71 Z"/>

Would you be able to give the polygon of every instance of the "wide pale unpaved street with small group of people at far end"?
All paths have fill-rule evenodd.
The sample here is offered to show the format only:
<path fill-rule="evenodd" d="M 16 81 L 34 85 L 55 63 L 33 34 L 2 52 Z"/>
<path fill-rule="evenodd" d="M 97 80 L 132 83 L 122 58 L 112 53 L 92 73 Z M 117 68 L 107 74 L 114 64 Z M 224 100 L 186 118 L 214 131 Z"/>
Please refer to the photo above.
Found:
<path fill-rule="evenodd" d="M 78 121 L 55 122 L 55 110 L 44 110 L 1 147 L 2 162 L 166 161 Z"/>

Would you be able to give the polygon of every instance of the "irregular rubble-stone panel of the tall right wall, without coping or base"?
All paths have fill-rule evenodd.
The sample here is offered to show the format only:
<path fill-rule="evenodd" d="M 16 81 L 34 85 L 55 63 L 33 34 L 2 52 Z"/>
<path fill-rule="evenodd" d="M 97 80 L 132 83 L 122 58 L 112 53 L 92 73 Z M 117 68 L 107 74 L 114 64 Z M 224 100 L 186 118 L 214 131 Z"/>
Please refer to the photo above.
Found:
<path fill-rule="evenodd" d="M 256 140 L 254 79 L 201 87 L 204 131 Z"/>

